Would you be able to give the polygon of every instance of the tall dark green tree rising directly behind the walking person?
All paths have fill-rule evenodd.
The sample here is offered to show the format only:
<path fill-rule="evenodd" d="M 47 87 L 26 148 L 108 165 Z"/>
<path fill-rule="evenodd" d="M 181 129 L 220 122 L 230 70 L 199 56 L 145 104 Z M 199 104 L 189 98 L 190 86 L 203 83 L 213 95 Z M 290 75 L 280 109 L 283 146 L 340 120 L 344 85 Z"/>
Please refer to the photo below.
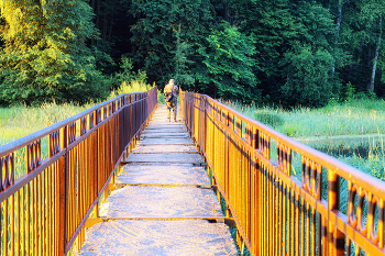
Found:
<path fill-rule="evenodd" d="M 211 20 L 210 2 L 207 0 L 133 0 L 129 13 L 136 19 L 131 26 L 131 56 L 139 68 L 146 70 L 150 82 L 157 84 L 165 84 L 176 74 L 177 44 L 180 47 L 185 42 L 183 47 L 194 47 L 208 34 Z M 186 54 L 187 49 L 184 51 Z M 195 62 L 195 56 L 189 57 Z M 184 65 L 194 68 L 189 63 Z"/>

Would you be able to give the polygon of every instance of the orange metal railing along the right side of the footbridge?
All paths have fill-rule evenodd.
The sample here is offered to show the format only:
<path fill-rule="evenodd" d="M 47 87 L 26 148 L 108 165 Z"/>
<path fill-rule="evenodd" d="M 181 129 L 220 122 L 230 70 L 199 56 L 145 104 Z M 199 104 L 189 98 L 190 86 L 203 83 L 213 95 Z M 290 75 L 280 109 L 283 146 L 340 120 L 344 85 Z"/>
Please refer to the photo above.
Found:
<path fill-rule="evenodd" d="M 251 255 L 385 255 L 385 182 L 220 102 L 182 92 L 187 129 Z"/>

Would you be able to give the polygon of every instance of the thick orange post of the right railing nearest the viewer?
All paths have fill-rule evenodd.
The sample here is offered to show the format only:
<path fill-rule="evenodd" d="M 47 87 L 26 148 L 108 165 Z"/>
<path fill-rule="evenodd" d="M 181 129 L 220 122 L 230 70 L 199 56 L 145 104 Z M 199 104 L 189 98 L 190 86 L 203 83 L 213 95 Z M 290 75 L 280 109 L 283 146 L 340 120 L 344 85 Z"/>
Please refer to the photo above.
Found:
<path fill-rule="evenodd" d="M 328 170 L 328 205 L 329 211 L 340 208 L 340 177 L 333 171 Z M 329 220 L 328 231 L 329 256 L 344 255 L 344 234 L 339 231 L 336 223 Z"/>

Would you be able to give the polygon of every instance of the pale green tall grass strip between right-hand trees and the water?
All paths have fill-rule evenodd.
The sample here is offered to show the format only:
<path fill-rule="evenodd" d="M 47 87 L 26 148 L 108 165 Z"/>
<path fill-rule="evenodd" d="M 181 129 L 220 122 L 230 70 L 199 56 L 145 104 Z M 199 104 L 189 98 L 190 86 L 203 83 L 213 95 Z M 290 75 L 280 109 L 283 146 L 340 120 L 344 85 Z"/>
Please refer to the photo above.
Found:
<path fill-rule="evenodd" d="M 292 137 L 385 133 L 384 100 L 331 101 L 320 109 L 223 103 Z"/>

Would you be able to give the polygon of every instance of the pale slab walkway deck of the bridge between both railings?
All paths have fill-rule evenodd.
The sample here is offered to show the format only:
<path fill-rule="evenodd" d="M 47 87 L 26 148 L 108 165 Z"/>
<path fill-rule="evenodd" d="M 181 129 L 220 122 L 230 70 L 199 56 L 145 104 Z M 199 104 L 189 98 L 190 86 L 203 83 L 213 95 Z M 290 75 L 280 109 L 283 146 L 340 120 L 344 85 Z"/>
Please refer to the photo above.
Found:
<path fill-rule="evenodd" d="M 125 162 L 80 255 L 237 255 L 180 116 L 161 105 Z"/>

